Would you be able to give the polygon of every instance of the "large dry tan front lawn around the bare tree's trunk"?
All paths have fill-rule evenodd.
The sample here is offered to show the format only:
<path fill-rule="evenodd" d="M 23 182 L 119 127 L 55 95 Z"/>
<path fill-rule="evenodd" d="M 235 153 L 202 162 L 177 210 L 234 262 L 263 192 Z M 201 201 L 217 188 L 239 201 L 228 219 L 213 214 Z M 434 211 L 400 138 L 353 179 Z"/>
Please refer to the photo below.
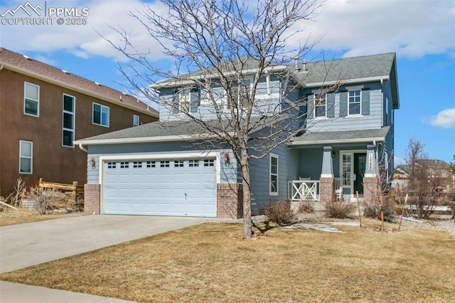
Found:
<path fill-rule="evenodd" d="M 454 236 L 339 229 L 249 240 L 242 225 L 205 223 L 0 279 L 137 302 L 453 302 Z"/>

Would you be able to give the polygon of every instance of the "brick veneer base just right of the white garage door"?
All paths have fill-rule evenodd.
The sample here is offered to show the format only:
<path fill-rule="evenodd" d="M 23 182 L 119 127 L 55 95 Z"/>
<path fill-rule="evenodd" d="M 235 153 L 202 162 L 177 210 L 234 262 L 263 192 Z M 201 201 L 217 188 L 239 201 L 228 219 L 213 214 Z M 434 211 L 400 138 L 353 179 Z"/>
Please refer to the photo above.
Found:
<path fill-rule="evenodd" d="M 243 215 L 242 184 L 219 183 L 216 186 L 216 217 L 238 219 Z"/>

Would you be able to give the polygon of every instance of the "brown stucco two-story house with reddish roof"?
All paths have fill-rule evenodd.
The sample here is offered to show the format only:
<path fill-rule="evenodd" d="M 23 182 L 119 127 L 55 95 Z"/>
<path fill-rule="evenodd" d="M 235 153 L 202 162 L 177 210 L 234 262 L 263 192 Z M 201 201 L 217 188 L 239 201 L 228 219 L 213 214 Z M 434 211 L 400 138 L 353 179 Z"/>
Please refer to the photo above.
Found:
<path fill-rule="evenodd" d="M 137 98 L 0 48 L 0 190 L 16 179 L 87 182 L 87 153 L 74 140 L 154 122 Z"/>

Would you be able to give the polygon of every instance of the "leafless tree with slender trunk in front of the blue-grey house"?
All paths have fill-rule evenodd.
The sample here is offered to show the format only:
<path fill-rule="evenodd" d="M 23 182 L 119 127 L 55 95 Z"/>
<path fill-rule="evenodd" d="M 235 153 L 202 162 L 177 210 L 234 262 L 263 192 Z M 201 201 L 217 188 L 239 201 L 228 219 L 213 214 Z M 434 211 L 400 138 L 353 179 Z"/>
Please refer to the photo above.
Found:
<path fill-rule="evenodd" d="M 232 149 L 242 172 L 244 235 L 250 237 L 250 160 L 264 158 L 305 127 L 306 113 L 300 109 L 307 101 L 289 98 L 301 87 L 299 80 L 292 77 L 294 66 L 289 65 L 296 60 L 294 57 L 302 58 L 308 53 L 316 41 L 301 41 L 299 49 L 294 50 L 289 48 L 289 41 L 298 39 L 300 30 L 294 28 L 296 23 L 312 20 L 323 2 L 257 1 L 254 7 L 241 0 L 161 2 L 166 6 L 165 14 L 158 14 L 149 6 L 130 14 L 141 22 L 164 54 L 175 60 L 176 65 L 170 70 L 154 68 L 154 63 L 148 60 L 149 53 L 136 50 L 127 31 L 116 29 L 125 41 L 123 46 L 109 43 L 132 60 L 129 68 L 121 71 L 144 95 L 155 97 L 134 76 L 148 83 L 166 78 L 169 80 L 167 84 L 161 83 L 162 87 L 180 87 L 172 97 L 163 98 L 161 105 L 198 125 L 203 136 L 195 136 L 195 142 L 213 149 Z M 274 100 L 255 102 L 264 75 L 277 76 L 282 87 L 277 87 L 279 95 Z M 338 86 L 324 87 L 323 92 L 334 91 Z M 202 89 L 203 96 L 194 100 L 209 103 L 213 120 L 208 121 L 192 110 L 192 87 Z M 323 92 L 319 100 L 324 99 Z M 186 97 L 181 97 L 177 104 L 179 95 Z"/>

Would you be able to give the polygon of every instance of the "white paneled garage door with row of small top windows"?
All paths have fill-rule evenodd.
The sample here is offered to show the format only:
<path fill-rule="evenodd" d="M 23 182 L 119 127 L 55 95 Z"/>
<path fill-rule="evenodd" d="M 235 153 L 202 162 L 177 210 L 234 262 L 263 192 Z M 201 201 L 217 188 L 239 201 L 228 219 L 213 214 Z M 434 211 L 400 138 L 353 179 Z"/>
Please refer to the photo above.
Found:
<path fill-rule="evenodd" d="M 215 159 L 105 161 L 104 213 L 216 216 Z"/>

